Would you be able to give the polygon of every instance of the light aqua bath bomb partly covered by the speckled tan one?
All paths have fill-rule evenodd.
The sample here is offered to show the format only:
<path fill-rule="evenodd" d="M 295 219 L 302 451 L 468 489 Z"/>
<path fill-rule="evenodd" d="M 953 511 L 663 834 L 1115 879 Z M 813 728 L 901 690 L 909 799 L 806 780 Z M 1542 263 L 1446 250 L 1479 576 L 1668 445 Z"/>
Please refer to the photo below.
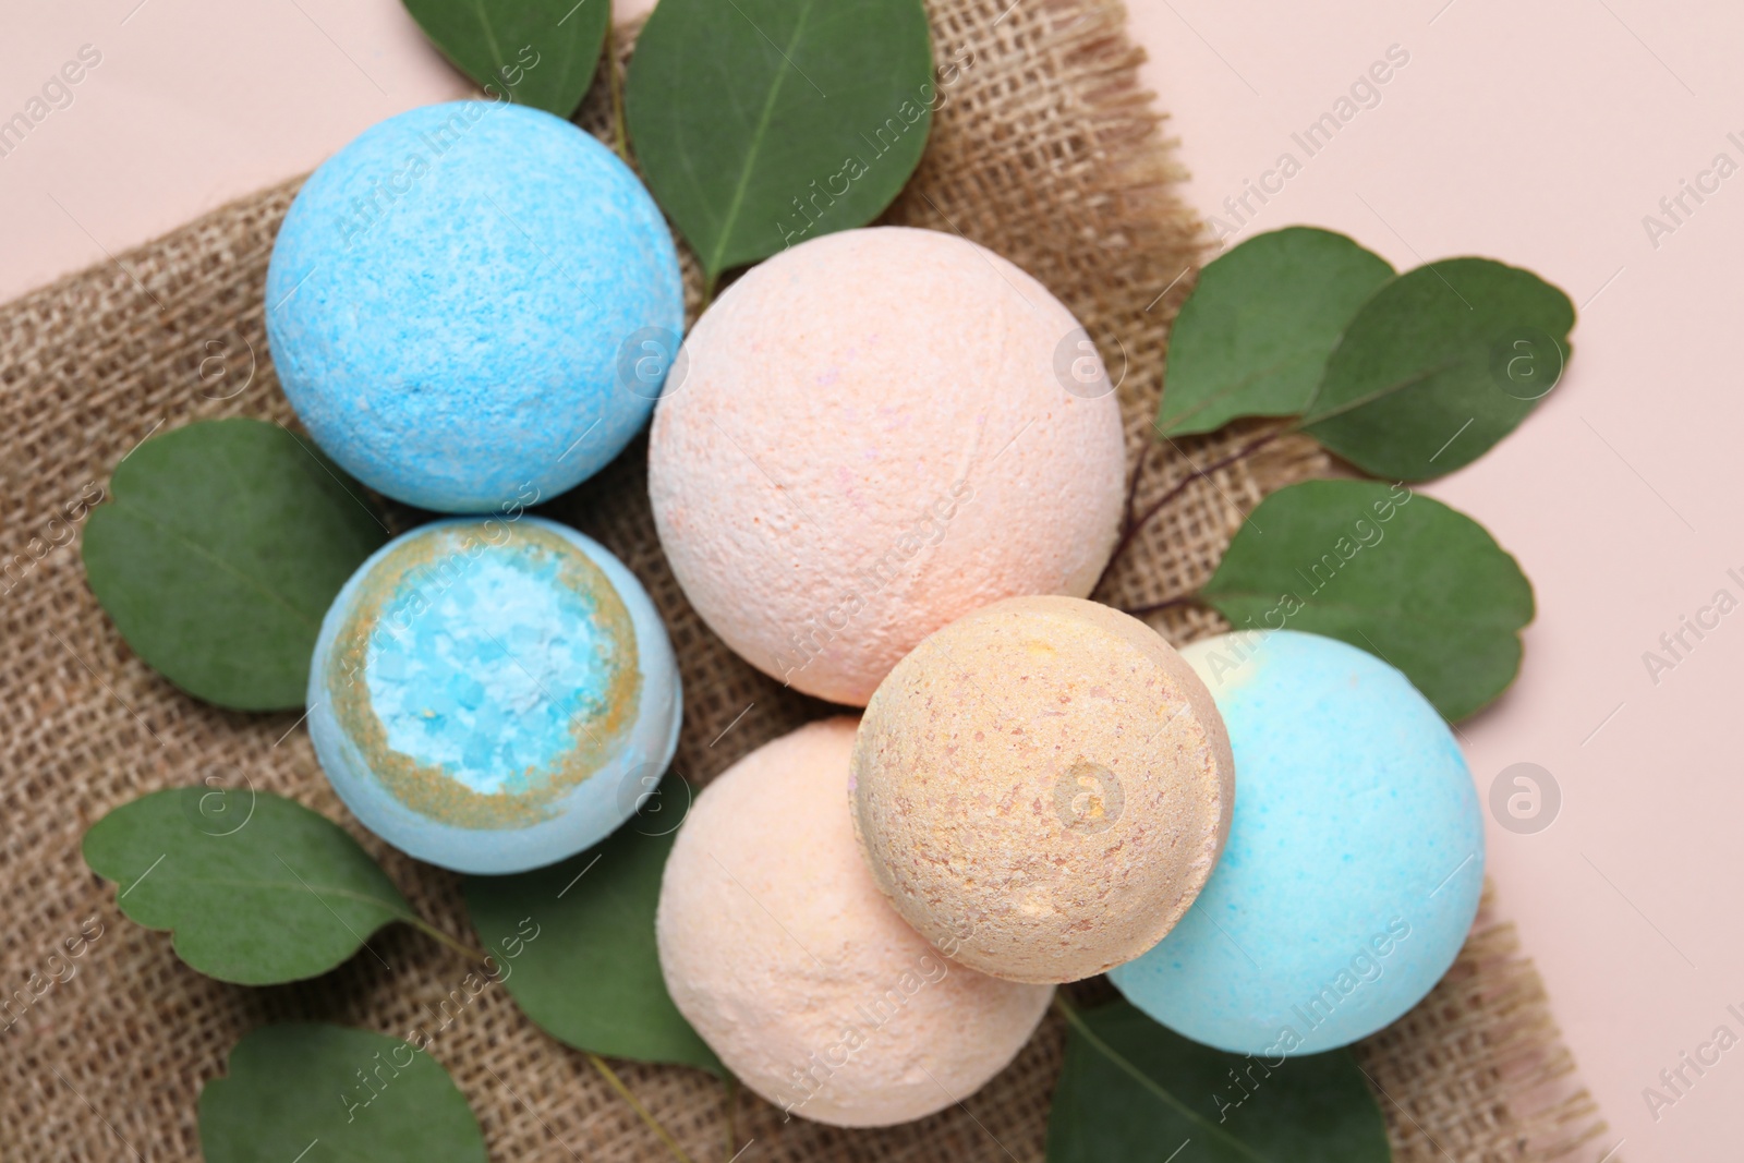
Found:
<path fill-rule="evenodd" d="M 1109 973 L 1195 1041 L 1266 1058 L 1421 1001 L 1477 915 L 1484 825 L 1453 734 L 1386 663 L 1278 631 L 1182 652 L 1235 752 L 1230 842 L 1158 945 Z"/>

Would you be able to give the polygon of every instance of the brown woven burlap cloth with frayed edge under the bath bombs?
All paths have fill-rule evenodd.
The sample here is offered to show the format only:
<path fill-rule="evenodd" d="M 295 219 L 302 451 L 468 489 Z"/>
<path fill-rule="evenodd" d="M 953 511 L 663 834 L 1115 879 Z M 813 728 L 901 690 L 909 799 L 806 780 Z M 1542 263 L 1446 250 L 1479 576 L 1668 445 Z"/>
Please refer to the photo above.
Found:
<path fill-rule="evenodd" d="M 933 141 L 893 221 L 961 232 L 1048 284 L 1088 326 L 1114 375 L 1132 460 L 1151 450 L 1137 506 L 1240 434 L 1158 446 L 1149 417 L 1168 321 L 1200 251 L 1141 52 L 1116 0 L 935 0 L 940 59 L 973 63 L 952 85 Z M 603 84 L 582 115 L 602 129 Z M 227 206 L 138 251 L 44 288 L 0 312 L 5 649 L 0 670 L 0 1156 L 197 1158 L 195 1100 L 228 1048 L 276 1020 L 321 1018 L 403 1032 L 448 997 L 469 966 L 405 928 L 314 982 L 241 989 L 183 966 L 169 938 L 126 921 L 115 889 L 78 854 L 85 826 L 136 795 L 206 774 L 291 795 L 344 821 L 434 924 L 469 935 L 457 879 L 363 832 L 328 788 L 296 715 L 235 715 L 188 699 L 146 670 L 98 609 L 78 563 L 80 499 L 98 495 L 146 434 L 197 417 L 293 422 L 262 330 L 272 235 L 288 183 Z M 689 269 L 694 275 L 694 267 Z M 694 305 L 694 277 L 692 277 Z M 1099 596 L 1141 605 L 1191 591 L 1242 514 L 1273 488 L 1327 471 L 1310 445 L 1191 481 Z M 555 516 L 617 553 L 671 628 L 685 687 L 677 767 L 708 781 L 757 745 L 821 715 L 741 663 L 698 621 L 661 558 L 633 446 L 562 499 Z M 70 518 L 70 520 L 68 520 Z M 1217 628 L 1168 610 L 1177 642 Z M 77 961 L 63 942 L 98 933 Z M 385 964 L 384 964 L 385 961 Z M 72 976 L 61 966 L 72 966 Z M 49 992 L 31 999 L 54 976 Z M 24 1004 L 19 1004 L 19 1001 Z M 14 1020 L 16 1018 L 16 1020 Z M 982 1092 L 921 1123 L 841 1132 L 783 1123 L 750 1095 L 685 1069 L 619 1064 L 631 1090 L 701 1161 L 1039 1160 L 1064 1034 L 1050 1017 Z M 659 1142 L 589 1069 L 487 989 L 434 1043 L 473 1104 L 495 1160 L 654 1160 Z M 1536 975 L 1512 931 L 1481 921 L 1446 982 L 1360 1060 L 1381 1095 L 1399 1160 L 1549 1160 L 1599 1135 L 1575 1090 Z M 729 1137 L 732 1142 L 729 1142 Z M 286 1160 L 295 1149 L 286 1153 Z"/>

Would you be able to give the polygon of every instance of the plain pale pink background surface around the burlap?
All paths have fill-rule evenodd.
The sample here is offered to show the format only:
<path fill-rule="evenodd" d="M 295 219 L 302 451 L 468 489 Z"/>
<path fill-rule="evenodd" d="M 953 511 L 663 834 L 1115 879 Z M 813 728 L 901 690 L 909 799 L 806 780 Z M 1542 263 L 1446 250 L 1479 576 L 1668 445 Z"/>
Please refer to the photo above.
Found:
<path fill-rule="evenodd" d="M 588 0 L 600 2 L 600 0 Z M 635 5 L 640 7 L 640 5 Z M 1659 1111 L 1645 1086 L 1720 1024 L 1744 1036 L 1744 612 L 1655 685 L 1643 652 L 1720 588 L 1744 600 L 1734 354 L 1744 174 L 1671 234 L 1643 216 L 1716 153 L 1744 166 L 1744 10 L 1646 0 L 1132 0 L 1188 197 L 1242 237 L 1305 221 L 1409 267 L 1491 255 L 1582 305 L 1578 359 L 1514 438 L 1428 492 L 1482 520 L 1538 589 L 1526 671 L 1465 725 L 1479 790 L 1547 767 L 1547 830 L 1491 830 L 1503 912 L 1634 1161 L 1735 1158 L 1744 1048 Z M 467 85 L 394 0 L 28 0 L 0 38 L 0 120 L 80 45 L 101 63 L 0 157 L 0 296 L 105 262 L 312 167 Z M 1411 54 L 1242 225 L 1245 180 L 1388 45 Z M 1713 185 L 1713 183 L 1709 183 Z M 1735 188 L 1734 188 L 1735 187 Z M 1247 218 L 1247 211 L 1242 211 Z M 1671 221 L 1671 220 L 1667 220 Z M 1158 289 L 1179 272 L 1156 272 Z M 1730 699 L 1727 696 L 1732 696 Z M 1734 1062 L 1735 1058 L 1735 1062 Z"/>

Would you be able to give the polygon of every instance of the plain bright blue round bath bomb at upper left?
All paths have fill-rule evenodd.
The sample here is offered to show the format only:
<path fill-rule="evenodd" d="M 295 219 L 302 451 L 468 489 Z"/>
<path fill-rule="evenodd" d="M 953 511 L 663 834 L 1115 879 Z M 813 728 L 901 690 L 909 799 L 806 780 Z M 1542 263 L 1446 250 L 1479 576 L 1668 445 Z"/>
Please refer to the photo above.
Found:
<path fill-rule="evenodd" d="M 267 269 L 291 406 L 347 473 L 441 513 L 548 499 L 635 436 L 684 328 L 664 218 L 520 105 L 431 105 L 303 185 Z"/>

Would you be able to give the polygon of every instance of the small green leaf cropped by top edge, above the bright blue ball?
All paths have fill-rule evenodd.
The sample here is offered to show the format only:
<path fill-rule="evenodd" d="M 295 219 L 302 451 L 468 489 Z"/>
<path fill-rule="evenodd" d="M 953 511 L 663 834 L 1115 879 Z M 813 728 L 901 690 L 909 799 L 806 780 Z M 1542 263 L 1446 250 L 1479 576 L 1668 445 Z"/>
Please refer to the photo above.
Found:
<path fill-rule="evenodd" d="M 588 96 L 610 0 L 405 0 L 412 19 L 490 98 L 569 117 Z"/>

